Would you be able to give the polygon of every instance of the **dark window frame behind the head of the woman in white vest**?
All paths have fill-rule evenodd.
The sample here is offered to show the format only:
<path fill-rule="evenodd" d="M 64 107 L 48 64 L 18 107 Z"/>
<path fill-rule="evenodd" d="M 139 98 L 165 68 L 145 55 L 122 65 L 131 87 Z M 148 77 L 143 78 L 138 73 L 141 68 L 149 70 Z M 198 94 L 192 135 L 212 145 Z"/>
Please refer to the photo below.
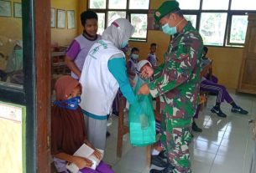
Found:
<path fill-rule="evenodd" d="M 91 0 L 87 1 L 87 10 L 92 10 L 95 13 L 105 13 L 105 28 L 107 28 L 108 23 L 107 23 L 107 18 L 108 18 L 108 12 L 109 11 L 114 11 L 114 12 L 126 12 L 126 18 L 128 19 L 129 22 L 131 22 L 131 14 L 135 13 L 135 14 L 146 14 L 147 17 L 149 17 L 149 8 L 150 8 L 150 1 L 149 1 L 149 8 L 148 9 L 129 9 L 129 3 L 130 0 L 126 1 L 126 8 L 124 9 L 114 9 L 114 8 L 107 8 L 108 4 L 109 4 L 109 0 L 106 0 L 106 8 L 90 8 L 90 3 Z M 104 29 L 105 29 L 104 28 Z M 146 38 L 130 38 L 129 41 L 130 42 L 148 42 L 148 36 L 149 36 L 149 29 L 148 29 L 148 25 L 147 25 L 147 34 L 146 34 Z"/>

